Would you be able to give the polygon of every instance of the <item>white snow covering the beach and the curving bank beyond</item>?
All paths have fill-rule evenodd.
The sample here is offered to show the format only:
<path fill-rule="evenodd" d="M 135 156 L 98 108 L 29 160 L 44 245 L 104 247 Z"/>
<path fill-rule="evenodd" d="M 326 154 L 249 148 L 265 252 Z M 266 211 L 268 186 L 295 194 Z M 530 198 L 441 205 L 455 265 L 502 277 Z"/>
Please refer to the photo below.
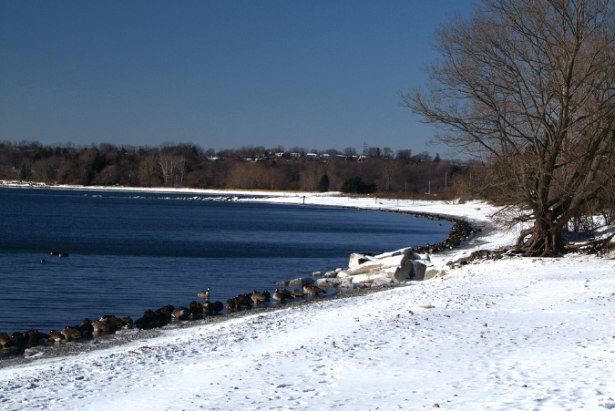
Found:
<path fill-rule="evenodd" d="M 465 204 L 282 194 L 290 204 L 446 214 Z M 436 269 L 515 232 L 432 254 Z M 336 267 L 332 267 L 332 270 Z M 507 257 L 379 293 L 169 328 L 0 369 L 0 409 L 615 408 L 615 261 Z"/>

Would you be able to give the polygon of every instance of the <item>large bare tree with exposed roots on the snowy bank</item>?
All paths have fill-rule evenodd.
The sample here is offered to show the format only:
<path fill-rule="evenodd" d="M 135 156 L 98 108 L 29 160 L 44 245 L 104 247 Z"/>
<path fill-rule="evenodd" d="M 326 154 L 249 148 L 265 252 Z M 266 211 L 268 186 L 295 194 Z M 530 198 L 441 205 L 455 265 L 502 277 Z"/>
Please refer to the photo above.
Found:
<path fill-rule="evenodd" d="M 483 0 L 436 32 L 429 93 L 402 104 L 441 128 L 436 140 L 497 162 L 518 188 L 517 248 L 564 251 L 562 230 L 601 190 L 613 159 L 612 0 Z M 611 176 L 612 178 L 612 176 Z"/>

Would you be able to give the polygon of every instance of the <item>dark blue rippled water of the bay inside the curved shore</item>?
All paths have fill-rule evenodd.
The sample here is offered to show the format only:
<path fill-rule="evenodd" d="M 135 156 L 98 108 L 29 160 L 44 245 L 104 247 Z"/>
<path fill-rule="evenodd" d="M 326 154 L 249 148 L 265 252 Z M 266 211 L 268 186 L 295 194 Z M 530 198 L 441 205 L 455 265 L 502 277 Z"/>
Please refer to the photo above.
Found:
<path fill-rule="evenodd" d="M 105 314 L 136 319 L 149 308 L 187 306 L 208 286 L 211 300 L 225 302 L 347 267 L 352 252 L 442 241 L 452 226 L 381 211 L 190 197 L 0 189 L 0 331 L 48 332 Z"/>

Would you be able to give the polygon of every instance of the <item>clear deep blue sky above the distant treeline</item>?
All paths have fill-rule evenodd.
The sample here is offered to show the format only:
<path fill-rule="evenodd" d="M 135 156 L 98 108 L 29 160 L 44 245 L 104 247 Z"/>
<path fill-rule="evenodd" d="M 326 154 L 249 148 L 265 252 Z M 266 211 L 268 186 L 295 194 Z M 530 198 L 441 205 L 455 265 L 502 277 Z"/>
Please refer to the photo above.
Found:
<path fill-rule="evenodd" d="M 464 0 L 3 0 L 0 140 L 446 153 L 398 106 Z M 441 155 L 442 155 L 441 154 Z"/>

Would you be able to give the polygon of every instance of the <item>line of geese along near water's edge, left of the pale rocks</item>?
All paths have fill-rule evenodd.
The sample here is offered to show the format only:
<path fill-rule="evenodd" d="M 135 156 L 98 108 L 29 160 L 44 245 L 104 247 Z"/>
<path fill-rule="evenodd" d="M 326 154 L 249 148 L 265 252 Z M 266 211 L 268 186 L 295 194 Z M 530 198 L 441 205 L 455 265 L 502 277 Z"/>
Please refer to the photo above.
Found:
<path fill-rule="evenodd" d="M 225 307 L 227 313 L 233 313 L 271 301 L 274 303 L 286 303 L 294 299 L 302 299 L 305 296 L 317 297 L 326 293 L 325 290 L 314 284 L 306 284 L 303 286 L 303 290 L 275 289 L 273 294 L 268 291 L 259 293 L 254 290 L 252 293 L 239 294 L 227 300 L 226 304 L 223 304 L 220 301 L 210 302 L 210 291 L 210 287 L 208 287 L 206 291 L 197 293 L 197 297 L 205 300 L 203 303 L 192 301 L 188 304 L 188 307 L 174 307 L 168 304 L 156 311 L 145 311 L 135 321 L 129 316 L 119 318 L 115 315 L 104 315 L 99 320 L 91 321 L 86 318 L 79 325 L 67 326 L 62 331 L 51 330 L 48 334 L 40 333 L 38 330 L 29 330 L 25 333 L 15 332 L 10 336 L 6 333 L 0 333 L 0 348 L 5 353 L 19 354 L 23 353 L 26 348 L 36 345 L 63 344 L 100 334 L 113 334 L 122 328 L 150 329 L 169 324 L 173 320 L 197 320 L 205 315 L 221 313 Z"/>

